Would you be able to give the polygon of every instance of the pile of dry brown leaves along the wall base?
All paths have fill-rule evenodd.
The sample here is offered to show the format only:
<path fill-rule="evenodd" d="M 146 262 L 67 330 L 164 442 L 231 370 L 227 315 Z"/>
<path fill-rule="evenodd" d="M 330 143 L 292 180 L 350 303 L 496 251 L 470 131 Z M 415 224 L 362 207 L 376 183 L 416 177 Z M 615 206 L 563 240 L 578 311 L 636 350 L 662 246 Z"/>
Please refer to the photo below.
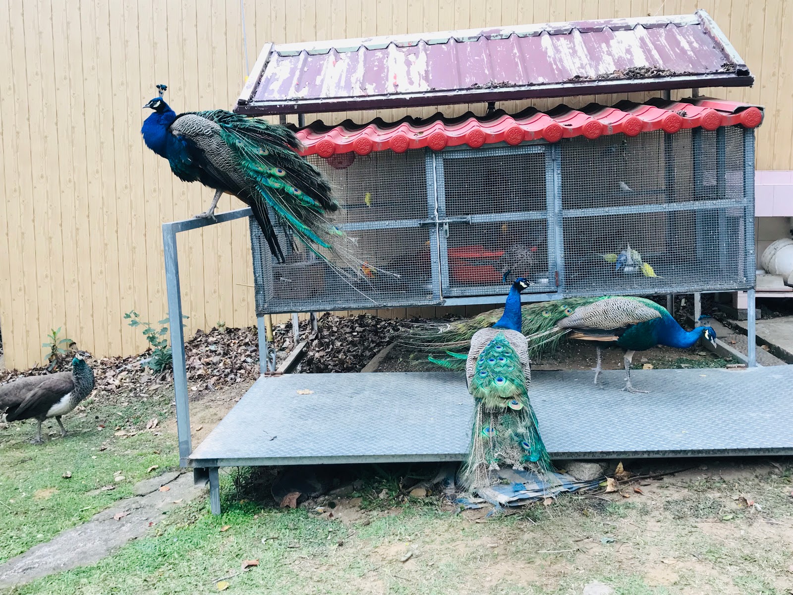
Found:
<path fill-rule="evenodd" d="M 358 372 L 383 347 L 392 341 L 400 321 L 378 318 L 370 314 L 339 317 L 324 313 L 317 324 L 317 336 L 308 342 L 308 352 L 301 363 L 301 372 Z M 301 321 L 301 340 L 310 336 L 311 324 Z M 281 361 L 294 347 L 292 324 L 273 328 L 274 346 Z M 196 332 L 185 346 L 187 382 L 191 391 L 216 390 L 259 377 L 259 343 L 255 328 L 213 328 Z M 173 383 L 173 372 L 153 374 L 141 366 L 147 354 L 125 358 L 90 359 L 96 390 L 105 394 L 158 390 Z M 52 371 L 70 370 L 64 363 Z M 44 366 L 30 370 L 0 370 L 0 383 L 24 376 L 48 374 Z"/>

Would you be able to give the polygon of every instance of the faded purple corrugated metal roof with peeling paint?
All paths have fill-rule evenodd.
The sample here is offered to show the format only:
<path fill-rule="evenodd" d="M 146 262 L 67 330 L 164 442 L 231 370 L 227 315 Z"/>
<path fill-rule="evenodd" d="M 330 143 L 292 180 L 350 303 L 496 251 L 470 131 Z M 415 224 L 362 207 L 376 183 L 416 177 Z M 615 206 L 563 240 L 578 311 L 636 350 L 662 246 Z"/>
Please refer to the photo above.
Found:
<path fill-rule="evenodd" d="M 339 111 L 752 83 L 741 56 L 698 10 L 266 44 L 236 111 Z"/>

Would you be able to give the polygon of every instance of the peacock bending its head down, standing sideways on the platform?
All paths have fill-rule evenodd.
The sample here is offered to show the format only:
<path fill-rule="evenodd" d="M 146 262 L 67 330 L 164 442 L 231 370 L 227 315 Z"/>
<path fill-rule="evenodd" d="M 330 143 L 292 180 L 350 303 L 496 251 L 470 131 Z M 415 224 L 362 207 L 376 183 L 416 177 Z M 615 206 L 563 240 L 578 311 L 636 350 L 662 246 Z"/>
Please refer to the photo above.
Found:
<path fill-rule="evenodd" d="M 576 339 L 613 343 L 626 350 L 625 387 L 630 393 L 647 393 L 630 382 L 630 365 L 636 351 L 656 345 L 688 349 L 704 337 L 715 344 L 716 333 L 710 326 L 686 331 L 671 314 L 656 302 L 634 296 L 603 296 L 601 298 L 566 298 L 524 305 L 521 330 L 527 337 L 529 355 L 537 357 L 553 351 L 561 340 Z M 463 357 L 457 351 L 480 328 L 497 320 L 497 310 L 481 313 L 467 321 L 421 323 L 408 328 L 400 343 L 416 351 L 446 353 L 447 359 L 432 358 L 444 367 L 456 367 Z M 601 372 L 601 349 L 597 347 L 595 384 Z"/>

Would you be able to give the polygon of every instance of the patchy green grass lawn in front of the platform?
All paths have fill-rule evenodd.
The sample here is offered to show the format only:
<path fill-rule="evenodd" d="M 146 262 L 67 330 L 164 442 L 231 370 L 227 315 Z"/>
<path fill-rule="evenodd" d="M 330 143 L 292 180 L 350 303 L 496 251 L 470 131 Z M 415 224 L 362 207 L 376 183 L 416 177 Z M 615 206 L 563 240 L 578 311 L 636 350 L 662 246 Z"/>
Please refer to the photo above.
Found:
<path fill-rule="evenodd" d="M 149 417 L 162 427 L 170 407 L 169 395 L 94 402 L 84 417 L 67 420 L 74 436 L 44 446 L 26 442 L 33 424 L 0 430 L 0 561 L 128 497 L 141 478 L 173 468 L 176 440 L 166 430 L 114 436 L 117 426 L 140 429 Z M 159 469 L 147 474 L 154 465 Z M 405 498 L 400 467 L 361 467 L 366 482 L 354 494 L 361 500 L 340 500 L 321 513 L 275 508 L 259 481 L 269 474 L 224 470 L 222 516 L 198 499 L 94 566 L 9 593 L 218 593 L 219 578 L 228 593 L 289 595 L 577 595 L 595 580 L 621 595 L 790 593 L 789 463 L 709 465 L 650 482 L 641 493 L 635 483 L 623 496 L 603 496 L 610 501 L 561 497 L 492 520 L 480 511 L 458 513 L 435 497 Z M 114 482 L 119 470 L 125 480 Z M 71 478 L 62 477 L 66 471 Z M 117 487 L 94 491 L 108 485 Z M 385 499 L 378 496 L 383 489 Z M 760 509 L 748 508 L 741 495 Z M 249 559 L 259 566 L 243 572 Z"/>

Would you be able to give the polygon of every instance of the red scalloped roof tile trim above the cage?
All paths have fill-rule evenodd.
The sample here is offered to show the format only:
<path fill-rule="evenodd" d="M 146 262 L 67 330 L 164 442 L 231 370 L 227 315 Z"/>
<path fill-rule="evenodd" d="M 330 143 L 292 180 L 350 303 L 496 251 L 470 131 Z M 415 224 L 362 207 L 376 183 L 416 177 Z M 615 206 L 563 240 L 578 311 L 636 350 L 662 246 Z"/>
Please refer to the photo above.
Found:
<path fill-rule="evenodd" d="M 613 107 L 590 103 L 582 109 L 562 105 L 549 112 L 529 108 L 515 115 L 496 112 L 489 117 L 466 113 L 446 118 L 438 113 L 426 120 L 405 117 L 391 124 L 378 118 L 367 125 L 345 121 L 329 128 L 317 121 L 297 131 L 297 137 L 305 147 L 303 155 L 320 155 L 327 159 L 348 152 L 368 155 L 391 149 L 402 153 L 424 147 L 439 151 L 461 144 L 479 148 L 500 142 L 520 144 L 524 140 L 555 143 L 573 136 L 596 139 L 619 132 L 636 136 L 651 130 L 672 133 L 697 126 L 706 130 L 736 124 L 754 128 L 762 120 L 762 109 L 745 103 L 712 98 L 668 102 L 654 98 L 646 103 L 623 101 Z"/>

